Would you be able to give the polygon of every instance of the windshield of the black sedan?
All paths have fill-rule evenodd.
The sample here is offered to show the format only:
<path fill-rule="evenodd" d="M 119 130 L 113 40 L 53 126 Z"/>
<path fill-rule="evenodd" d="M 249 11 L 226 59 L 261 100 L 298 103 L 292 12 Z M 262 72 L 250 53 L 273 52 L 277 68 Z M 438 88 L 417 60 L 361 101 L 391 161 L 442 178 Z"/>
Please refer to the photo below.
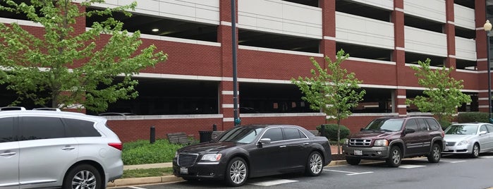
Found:
<path fill-rule="evenodd" d="M 261 127 L 243 127 L 238 126 L 227 130 L 221 135 L 217 141 L 219 142 L 238 142 L 238 143 L 250 143 L 260 134 L 264 128 Z"/>

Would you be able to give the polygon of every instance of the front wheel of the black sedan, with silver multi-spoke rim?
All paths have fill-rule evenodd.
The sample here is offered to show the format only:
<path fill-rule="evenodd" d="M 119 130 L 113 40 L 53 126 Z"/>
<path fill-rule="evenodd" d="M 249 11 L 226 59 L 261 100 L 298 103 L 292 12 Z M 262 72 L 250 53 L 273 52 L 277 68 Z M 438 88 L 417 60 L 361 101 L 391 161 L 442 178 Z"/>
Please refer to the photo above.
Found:
<path fill-rule="evenodd" d="M 248 178 L 248 166 L 245 159 L 235 157 L 229 161 L 226 166 L 225 179 L 227 185 L 241 186 L 245 184 Z"/>

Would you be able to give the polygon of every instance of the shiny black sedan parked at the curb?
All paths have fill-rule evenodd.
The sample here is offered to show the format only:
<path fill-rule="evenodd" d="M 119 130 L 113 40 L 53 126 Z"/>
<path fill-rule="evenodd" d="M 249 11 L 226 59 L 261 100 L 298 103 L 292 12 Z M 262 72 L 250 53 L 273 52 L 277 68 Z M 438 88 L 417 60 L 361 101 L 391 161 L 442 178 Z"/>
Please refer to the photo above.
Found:
<path fill-rule="evenodd" d="M 319 176 L 331 161 L 329 141 L 300 126 L 248 125 L 226 130 L 211 142 L 177 150 L 175 176 L 185 180 L 224 180 L 245 184 L 248 178 L 304 172 Z"/>

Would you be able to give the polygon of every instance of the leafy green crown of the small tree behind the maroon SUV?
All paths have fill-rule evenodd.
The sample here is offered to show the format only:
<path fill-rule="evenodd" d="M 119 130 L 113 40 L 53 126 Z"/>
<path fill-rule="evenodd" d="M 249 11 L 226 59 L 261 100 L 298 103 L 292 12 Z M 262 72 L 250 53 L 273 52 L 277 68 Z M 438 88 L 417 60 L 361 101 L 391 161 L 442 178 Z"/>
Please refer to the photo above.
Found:
<path fill-rule="evenodd" d="M 463 94 L 461 89 L 463 80 L 455 80 L 450 76 L 454 68 L 432 70 L 430 59 L 418 61 L 418 66 L 411 66 L 416 71 L 418 84 L 425 87 L 425 96 L 417 96 L 415 99 L 406 99 L 407 104 L 415 104 L 422 112 L 431 112 L 442 119 L 449 120 L 452 114 L 456 114 L 457 106 L 471 102 L 469 95 Z"/>

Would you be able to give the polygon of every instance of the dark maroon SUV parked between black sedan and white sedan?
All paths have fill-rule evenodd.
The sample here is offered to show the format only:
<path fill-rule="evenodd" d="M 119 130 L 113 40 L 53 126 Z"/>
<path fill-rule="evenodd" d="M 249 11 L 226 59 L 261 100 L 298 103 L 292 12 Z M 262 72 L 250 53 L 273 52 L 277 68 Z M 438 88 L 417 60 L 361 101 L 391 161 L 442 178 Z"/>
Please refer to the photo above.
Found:
<path fill-rule="evenodd" d="M 404 157 L 425 156 L 437 163 L 444 147 L 444 131 L 432 117 L 383 117 L 350 135 L 343 144 L 343 154 L 351 165 L 361 159 L 379 159 L 397 167 Z"/>

